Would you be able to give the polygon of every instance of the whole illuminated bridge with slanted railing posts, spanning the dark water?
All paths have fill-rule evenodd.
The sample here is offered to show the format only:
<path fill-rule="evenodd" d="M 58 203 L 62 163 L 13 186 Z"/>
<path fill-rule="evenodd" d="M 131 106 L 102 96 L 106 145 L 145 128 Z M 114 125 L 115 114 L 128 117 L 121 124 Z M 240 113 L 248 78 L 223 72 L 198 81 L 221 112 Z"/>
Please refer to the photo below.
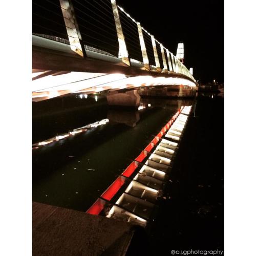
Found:
<path fill-rule="evenodd" d="M 115 0 L 32 4 L 33 101 L 151 86 L 195 89 L 183 44 L 175 56 Z"/>

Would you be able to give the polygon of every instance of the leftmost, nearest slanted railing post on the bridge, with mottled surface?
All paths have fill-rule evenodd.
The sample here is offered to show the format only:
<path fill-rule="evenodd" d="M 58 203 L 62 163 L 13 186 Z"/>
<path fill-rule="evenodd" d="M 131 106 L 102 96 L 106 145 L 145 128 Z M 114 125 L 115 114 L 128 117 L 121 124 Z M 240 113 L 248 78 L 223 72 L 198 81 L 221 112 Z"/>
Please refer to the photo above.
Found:
<path fill-rule="evenodd" d="M 59 3 L 69 37 L 70 48 L 72 51 L 83 57 L 84 51 L 82 50 L 83 48 L 80 42 L 81 35 L 78 26 L 75 25 L 76 19 L 72 13 L 72 6 L 68 0 L 59 0 Z"/>

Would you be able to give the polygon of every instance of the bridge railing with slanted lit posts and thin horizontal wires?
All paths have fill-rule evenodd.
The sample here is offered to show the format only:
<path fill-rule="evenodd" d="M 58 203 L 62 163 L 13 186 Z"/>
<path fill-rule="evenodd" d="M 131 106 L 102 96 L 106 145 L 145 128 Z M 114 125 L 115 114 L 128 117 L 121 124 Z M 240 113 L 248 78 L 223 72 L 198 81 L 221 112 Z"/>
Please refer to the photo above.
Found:
<path fill-rule="evenodd" d="M 116 0 L 32 0 L 32 33 L 70 45 L 81 57 L 124 62 L 161 73 L 187 68 Z"/>

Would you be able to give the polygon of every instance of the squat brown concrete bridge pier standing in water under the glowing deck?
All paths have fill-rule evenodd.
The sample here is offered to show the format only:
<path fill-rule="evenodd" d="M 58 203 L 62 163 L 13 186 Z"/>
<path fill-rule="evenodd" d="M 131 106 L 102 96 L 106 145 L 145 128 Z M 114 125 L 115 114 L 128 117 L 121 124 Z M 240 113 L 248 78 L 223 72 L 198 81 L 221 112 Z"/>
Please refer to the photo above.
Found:
<path fill-rule="evenodd" d="M 106 99 L 112 106 L 139 106 L 140 104 L 140 95 L 137 90 L 126 93 L 111 92 Z"/>

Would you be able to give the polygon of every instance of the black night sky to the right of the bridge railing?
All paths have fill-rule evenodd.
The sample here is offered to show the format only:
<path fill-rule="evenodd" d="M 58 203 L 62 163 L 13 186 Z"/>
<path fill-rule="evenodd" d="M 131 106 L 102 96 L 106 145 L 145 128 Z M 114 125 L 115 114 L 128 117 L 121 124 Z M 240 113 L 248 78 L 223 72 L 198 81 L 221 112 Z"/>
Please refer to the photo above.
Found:
<path fill-rule="evenodd" d="M 176 55 L 184 42 L 185 66 L 195 79 L 224 81 L 224 2 L 222 0 L 116 0 Z"/>

